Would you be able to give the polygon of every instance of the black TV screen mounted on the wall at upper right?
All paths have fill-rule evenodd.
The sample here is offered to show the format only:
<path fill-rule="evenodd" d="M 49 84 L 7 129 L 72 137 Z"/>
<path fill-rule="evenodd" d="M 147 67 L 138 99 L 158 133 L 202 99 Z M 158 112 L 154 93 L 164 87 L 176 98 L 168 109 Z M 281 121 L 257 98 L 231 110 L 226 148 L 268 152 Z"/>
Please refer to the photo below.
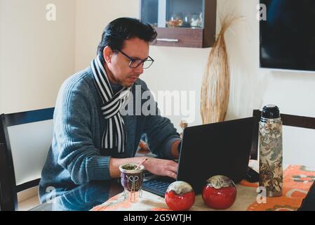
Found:
<path fill-rule="evenodd" d="M 260 0 L 260 67 L 315 71 L 315 0 Z"/>

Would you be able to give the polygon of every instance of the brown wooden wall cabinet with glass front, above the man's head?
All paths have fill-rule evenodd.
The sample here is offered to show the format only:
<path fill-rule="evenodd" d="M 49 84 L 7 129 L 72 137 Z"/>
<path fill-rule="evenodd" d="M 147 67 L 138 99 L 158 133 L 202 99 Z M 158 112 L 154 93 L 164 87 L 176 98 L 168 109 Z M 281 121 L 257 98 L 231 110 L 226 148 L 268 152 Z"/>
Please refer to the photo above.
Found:
<path fill-rule="evenodd" d="M 142 22 L 155 27 L 155 45 L 209 48 L 215 41 L 217 0 L 141 0 Z"/>

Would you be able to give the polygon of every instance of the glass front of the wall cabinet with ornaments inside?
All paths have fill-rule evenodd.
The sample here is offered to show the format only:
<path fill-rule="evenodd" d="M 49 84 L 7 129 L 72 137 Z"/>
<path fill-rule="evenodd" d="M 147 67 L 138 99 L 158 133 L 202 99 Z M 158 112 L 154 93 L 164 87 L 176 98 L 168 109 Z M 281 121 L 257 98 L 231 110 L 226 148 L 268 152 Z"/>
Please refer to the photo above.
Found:
<path fill-rule="evenodd" d="M 141 20 L 154 27 L 203 28 L 204 0 L 142 0 Z"/>

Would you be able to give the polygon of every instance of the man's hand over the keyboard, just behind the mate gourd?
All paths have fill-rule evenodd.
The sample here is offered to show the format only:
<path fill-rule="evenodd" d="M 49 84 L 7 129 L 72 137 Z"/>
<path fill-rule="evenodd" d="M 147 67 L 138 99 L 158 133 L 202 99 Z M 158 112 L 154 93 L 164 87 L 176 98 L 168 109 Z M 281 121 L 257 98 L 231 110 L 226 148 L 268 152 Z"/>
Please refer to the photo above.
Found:
<path fill-rule="evenodd" d="M 152 174 L 159 176 L 170 176 L 173 179 L 177 177 L 178 163 L 173 160 L 161 160 L 157 158 L 148 158 L 143 165 L 145 169 Z"/>

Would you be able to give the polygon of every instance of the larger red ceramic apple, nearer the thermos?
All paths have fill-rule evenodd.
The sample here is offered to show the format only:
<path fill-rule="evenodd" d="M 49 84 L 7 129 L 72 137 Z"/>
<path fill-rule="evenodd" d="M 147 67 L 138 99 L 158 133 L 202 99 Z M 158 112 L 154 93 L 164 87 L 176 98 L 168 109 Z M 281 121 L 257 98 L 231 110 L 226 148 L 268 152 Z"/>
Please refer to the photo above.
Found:
<path fill-rule="evenodd" d="M 215 210 L 225 210 L 236 200 L 236 186 L 227 176 L 212 176 L 202 191 L 203 201 Z"/>

